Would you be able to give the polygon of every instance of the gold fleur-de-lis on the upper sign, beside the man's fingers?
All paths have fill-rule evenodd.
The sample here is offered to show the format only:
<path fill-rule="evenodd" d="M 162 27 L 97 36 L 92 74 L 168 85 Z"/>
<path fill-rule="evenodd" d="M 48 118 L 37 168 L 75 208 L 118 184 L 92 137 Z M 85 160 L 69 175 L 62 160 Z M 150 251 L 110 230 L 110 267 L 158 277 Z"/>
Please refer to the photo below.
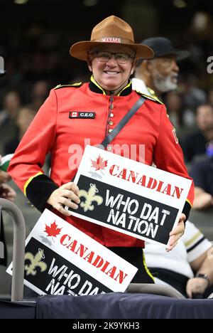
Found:
<path fill-rule="evenodd" d="M 94 205 L 92 205 L 92 201 L 96 201 L 98 205 L 101 205 L 103 202 L 102 196 L 97 196 L 96 193 L 98 193 L 98 189 L 96 187 L 96 184 L 90 184 L 89 191 L 80 190 L 79 191 L 79 197 L 83 196 L 86 200 L 80 203 L 80 206 L 84 208 L 84 211 L 93 211 Z"/>

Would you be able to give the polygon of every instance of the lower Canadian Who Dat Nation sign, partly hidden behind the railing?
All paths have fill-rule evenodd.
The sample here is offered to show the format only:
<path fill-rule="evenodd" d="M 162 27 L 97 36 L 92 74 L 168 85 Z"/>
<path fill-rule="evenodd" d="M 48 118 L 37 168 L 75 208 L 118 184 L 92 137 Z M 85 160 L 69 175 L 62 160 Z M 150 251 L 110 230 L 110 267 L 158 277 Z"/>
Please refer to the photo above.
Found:
<path fill-rule="evenodd" d="M 40 295 L 124 292 L 137 270 L 48 209 L 26 239 L 24 284 Z"/>

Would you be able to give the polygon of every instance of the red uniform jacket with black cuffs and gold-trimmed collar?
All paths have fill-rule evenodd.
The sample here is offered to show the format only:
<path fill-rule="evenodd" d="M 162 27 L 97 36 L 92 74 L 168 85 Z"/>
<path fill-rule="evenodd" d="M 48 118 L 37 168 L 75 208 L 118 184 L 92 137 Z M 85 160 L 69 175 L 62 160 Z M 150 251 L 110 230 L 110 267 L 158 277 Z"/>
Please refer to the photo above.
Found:
<path fill-rule="evenodd" d="M 83 152 L 85 138 L 90 139 L 91 145 L 100 144 L 109 134 L 109 129 L 118 124 L 138 98 L 138 93 L 131 90 L 131 83 L 119 95 L 109 96 L 94 79 L 76 87 L 58 86 L 50 91 L 9 166 L 9 174 L 36 208 L 43 211 L 50 194 L 75 176 L 77 170 L 69 167 L 69 162 L 72 162 L 71 145 L 80 145 L 78 147 L 82 147 Z M 70 118 L 70 112 L 95 112 L 95 117 Z M 145 144 L 146 164 L 154 162 L 159 169 L 190 178 L 173 125 L 165 105 L 160 102 L 147 97 L 111 144 Z M 50 178 L 42 170 L 48 152 L 52 157 Z M 192 186 L 183 210 L 187 216 L 193 199 Z M 106 246 L 144 245 L 142 240 L 73 216 L 62 218 Z"/>

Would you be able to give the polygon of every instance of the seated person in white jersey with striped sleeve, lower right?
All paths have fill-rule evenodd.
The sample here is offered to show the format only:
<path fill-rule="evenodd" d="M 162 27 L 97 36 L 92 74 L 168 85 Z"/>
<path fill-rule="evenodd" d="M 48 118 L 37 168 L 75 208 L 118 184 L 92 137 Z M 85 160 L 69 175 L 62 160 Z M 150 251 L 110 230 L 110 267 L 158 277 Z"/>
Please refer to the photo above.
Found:
<path fill-rule="evenodd" d="M 190 221 L 170 253 L 166 253 L 162 245 L 146 243 L 145 255 L 146 265 L 156 276 L 155 283 L 171 285 L 190 298 L 193 293 L 204 297 L 212 293 L 212 243 Z"/>

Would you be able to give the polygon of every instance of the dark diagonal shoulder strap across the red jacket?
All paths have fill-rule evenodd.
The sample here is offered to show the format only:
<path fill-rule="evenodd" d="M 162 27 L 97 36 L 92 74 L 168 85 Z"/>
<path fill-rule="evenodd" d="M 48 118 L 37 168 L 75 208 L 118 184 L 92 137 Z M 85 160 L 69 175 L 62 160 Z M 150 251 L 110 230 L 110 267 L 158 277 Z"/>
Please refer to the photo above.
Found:
<path fill-rule="evenodd" d="M 139 100 L 137 100 L 133 107 L 131 107 L 131 110 L 129 110 L 129 112 L 126 113 L 124 118 L 121 119 L 119 124 L 114 127 L 113 131 L 111 131 L 111 133 L 107 137 L 105 137 L 105 139 L 101 143 L 102 147 L 100 148 L 106 148 L 107 145 L 110 144 L 110 142 L 116 137 L 117 134 L 119 134 L 121 129 L 126 125 L 127 122 L 129 122 L 131 117 L 138 111 L 139 107 L 141 107 L 141 105 L 143 105 L 145 101 L 146 100 L 143 97 L 140 97 Z"/>

